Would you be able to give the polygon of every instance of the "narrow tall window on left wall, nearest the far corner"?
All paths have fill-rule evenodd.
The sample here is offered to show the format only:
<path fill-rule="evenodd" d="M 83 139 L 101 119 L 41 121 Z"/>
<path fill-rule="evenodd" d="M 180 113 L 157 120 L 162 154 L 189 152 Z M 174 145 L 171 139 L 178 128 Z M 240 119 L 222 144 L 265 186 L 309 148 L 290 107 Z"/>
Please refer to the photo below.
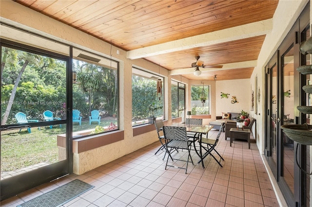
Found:
<path fill-rule="evenodd" d="M 185 85 L 171 81 L 171 117 L 180 117 L 185 108 Z"/>

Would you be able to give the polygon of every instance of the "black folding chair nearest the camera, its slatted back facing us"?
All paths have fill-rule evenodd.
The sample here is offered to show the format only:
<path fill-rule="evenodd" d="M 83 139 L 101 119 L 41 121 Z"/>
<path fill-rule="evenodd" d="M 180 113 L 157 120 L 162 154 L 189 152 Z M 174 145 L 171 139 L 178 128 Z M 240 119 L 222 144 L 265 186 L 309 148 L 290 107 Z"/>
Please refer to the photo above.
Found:
<path fill-rule="evenodd" d="M 175 159 L 175 160 L 185 161 L 186 162 L 186 168 L 183 168 L 180 166 L 168 165 L 168 160 L 169 160 L 169 156 L 168 156 L 165 170 L 167 170 L 167 166 L 175 167 L 175 168 L 179 168 L 179 169 L 185 169 L 185 174 L 186 174 L 187 173 L 187 166 L 189 164 L 190 158 L 191 158 L 192 164 L 194 165 L 193 159 L 191 157 L 192 142 L 189 142 L 189 140 L 188 140 L 189 138 L 187 137 L 187 134 L 186 134 L 186 128 L 185 127 L 176 127 L 176 126 L 164 126 L 163 132 L 164 132 L 164 138 L 166 141 L 167 152 L 171 152 L 172 150 L 176 150 L 176 149 L 182 149 L 182 150 L 186 149 L 188 151 L 188 154 L 189 154 L 187 157 L 187 161 L 182 160 L 182 159 Z M 170 153 L 169 153 L 169 155 L 170 155 Z M 170 155 L 170 157 L 171 157 L 171 155 Z"/>

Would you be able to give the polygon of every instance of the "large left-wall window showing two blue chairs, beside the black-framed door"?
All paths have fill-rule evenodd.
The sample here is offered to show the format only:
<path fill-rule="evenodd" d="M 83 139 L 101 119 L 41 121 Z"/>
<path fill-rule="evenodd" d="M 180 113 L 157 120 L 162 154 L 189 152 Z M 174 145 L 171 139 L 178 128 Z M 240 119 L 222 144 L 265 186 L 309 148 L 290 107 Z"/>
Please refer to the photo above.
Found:
<path fill-rule="evenodd" d="M 118 129 L 118 63 L 73 50 L 73 132 L 98 134 Z"/>

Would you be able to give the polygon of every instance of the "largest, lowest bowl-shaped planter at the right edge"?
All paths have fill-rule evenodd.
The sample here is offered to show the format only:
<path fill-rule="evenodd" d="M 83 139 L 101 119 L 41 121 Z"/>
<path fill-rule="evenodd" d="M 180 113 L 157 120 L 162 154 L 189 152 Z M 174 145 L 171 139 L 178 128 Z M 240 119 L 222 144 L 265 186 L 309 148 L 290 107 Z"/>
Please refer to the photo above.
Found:
<path fill-rule="evenodd" d="M 287 124 L 282 125 L 281 129 L 293 141 L 304 145 L 312 145 L 312 125 Z"/>

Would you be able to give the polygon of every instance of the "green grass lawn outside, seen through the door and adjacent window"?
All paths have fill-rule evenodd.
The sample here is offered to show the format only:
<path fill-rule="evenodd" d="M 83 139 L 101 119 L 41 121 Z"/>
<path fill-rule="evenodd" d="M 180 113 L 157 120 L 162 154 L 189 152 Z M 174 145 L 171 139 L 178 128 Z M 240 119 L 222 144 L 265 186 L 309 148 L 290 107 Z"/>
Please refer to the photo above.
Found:
<path fill-rule="evenodd" d="M 101 119 L 101 126 L 108 126 L 111 122 L 117 123 L 117 118 Z M 98 124 L 89 120 L 73 124 L 73 131 L 94 129 Z M 29 134 L 27 129 L 1 132 L 1 172 L 16 171 L 39 163 L 55 163 L 59 160 L 57 135 L 66 133 L 66 125 L 32 128 Z"/>

